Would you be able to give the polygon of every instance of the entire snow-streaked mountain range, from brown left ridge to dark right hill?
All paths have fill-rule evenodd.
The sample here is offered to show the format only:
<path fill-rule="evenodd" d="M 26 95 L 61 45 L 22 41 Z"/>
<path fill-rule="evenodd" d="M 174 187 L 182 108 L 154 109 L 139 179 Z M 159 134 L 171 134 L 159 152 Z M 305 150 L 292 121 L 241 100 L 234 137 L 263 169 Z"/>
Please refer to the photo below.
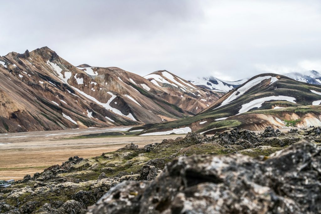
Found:
<path fill-rule="evenodd" d="M 186 81 L 74 66 L 48 47 L 0 57 L 0 133 L 140 125 L 141 134 L 321 125 L 321 75 Z"/>

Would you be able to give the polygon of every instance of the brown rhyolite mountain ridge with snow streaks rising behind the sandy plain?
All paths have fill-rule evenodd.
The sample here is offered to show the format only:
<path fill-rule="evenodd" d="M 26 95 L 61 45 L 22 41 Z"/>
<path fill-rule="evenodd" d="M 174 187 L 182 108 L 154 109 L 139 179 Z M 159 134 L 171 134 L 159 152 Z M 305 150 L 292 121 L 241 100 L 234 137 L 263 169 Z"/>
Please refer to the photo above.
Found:
<path fill-rule="evenodd" d="M 172 121 L 222 95 L 167 71 L 151 75 L 75 67 L 48 47 L 9 53 L 0 57 L 0 133 Z"/>

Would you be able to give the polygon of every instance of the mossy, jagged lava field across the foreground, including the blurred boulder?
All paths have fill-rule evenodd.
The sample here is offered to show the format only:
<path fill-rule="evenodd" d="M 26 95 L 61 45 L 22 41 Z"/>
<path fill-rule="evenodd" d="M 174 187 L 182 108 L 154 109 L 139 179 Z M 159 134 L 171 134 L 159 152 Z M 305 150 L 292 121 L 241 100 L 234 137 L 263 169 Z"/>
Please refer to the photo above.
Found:
<path fill-rule="evenodd" d="M 320 212 L 320 130 L 228 128 L 71 157 L 0 189 L 0 213 L 82 214 L 101 197 L 89 213 Z"/>

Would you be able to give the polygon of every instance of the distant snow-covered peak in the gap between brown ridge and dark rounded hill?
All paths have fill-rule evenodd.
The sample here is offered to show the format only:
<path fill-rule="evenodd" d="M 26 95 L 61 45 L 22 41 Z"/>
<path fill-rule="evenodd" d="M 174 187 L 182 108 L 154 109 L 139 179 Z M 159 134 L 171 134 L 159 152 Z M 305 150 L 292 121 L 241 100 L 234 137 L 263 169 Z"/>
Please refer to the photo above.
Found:
<path fill-rule="evenodd" d="M 242 79 L 238 81 L 224 81 L 215 77 L 198 77 L 196 80 L 190 82 L 200 88 L 215 90 L 218 92 L 228 92 L 229 90 L 237 88 L 247 80 L 248 79 Z"/>

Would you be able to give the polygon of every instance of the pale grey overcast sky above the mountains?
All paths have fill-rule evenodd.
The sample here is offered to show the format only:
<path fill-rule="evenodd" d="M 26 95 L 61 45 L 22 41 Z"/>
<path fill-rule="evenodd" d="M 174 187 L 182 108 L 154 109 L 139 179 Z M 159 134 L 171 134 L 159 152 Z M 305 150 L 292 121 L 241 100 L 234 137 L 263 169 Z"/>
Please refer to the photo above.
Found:
<path fill-rule="evenodd" d="M 321 72 L 320 0 L 0 1 L 0 55 L 48 46 L 74 65 L 238 80 Z"/>

